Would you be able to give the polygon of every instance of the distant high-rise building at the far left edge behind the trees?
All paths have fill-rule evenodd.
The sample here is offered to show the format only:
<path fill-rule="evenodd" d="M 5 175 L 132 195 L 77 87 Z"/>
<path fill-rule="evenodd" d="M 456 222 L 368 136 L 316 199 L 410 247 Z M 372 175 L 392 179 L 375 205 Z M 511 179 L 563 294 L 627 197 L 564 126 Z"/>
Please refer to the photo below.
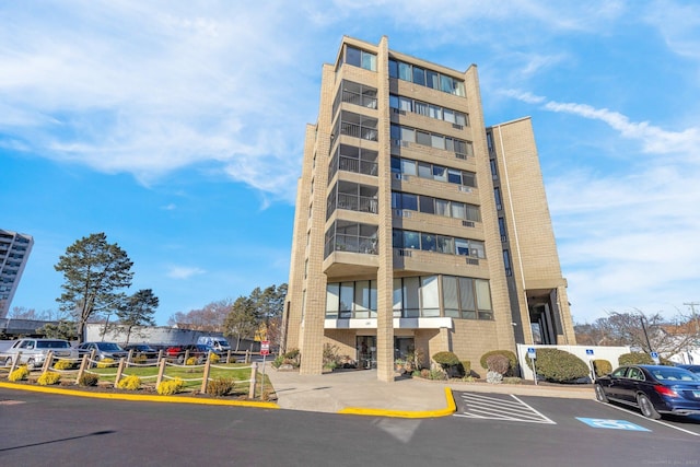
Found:
<path fill-rule="evenodd" d="M 33 245 L 34 238 L 30 235 L 0 229 L 0 318 L 10 312 Z"/>

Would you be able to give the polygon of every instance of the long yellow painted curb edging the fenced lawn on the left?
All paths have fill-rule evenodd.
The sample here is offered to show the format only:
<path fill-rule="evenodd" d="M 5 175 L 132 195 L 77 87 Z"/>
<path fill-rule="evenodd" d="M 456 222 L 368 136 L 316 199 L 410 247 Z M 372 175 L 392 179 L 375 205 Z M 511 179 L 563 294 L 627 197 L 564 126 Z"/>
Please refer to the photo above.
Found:
<path fill-rule="evenodd" d="M 221 399 L 188 399 L 186 397 L 174 396 L 143 396 L 139 394 L 110 394 L 110 393 L 90 393 L 88 390 L 61 389 L 50 386 L 28 386 L 24 384 L 1 383 L 0 387 L 5 389 L 30 390 L 34 393 L 60 394 L 63 396 L 92 397 L 93 399 L 112 399 L 112 400 L 142 400 L 149 402 L 175 402 L 175 404 L 199 404 L 205 406 L 238 406 L 238 407 L 257 407 L 262 409 L 279 409 L 275 402 L 255 402 L 247 400 L 221 400 Z"/>

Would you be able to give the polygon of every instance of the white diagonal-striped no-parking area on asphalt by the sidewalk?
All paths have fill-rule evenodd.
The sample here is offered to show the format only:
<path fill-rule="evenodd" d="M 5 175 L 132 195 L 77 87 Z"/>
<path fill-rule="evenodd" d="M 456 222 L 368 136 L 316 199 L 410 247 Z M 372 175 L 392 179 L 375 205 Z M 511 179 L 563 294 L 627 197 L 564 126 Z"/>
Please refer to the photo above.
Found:
<path fill-rule="evenodd" d="M 482 394 L 462 393 L 466 410 L 463 413 L 455 413 L 454 417 L 557 424 L 514 395 L 510 396 L 515 399 L 514 402 Z"/>

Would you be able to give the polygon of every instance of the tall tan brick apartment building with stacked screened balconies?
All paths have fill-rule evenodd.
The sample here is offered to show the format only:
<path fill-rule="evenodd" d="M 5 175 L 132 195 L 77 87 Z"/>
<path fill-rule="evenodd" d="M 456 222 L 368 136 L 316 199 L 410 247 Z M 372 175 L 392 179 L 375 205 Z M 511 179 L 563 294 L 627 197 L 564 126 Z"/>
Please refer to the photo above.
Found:
<path fill-rule="evenodd" d="M 477 67 L 343 37 L 298 183 L 283 349 L 393 381 L 409 353 L 575 343 L 529 118 L 486 127 Z"/>

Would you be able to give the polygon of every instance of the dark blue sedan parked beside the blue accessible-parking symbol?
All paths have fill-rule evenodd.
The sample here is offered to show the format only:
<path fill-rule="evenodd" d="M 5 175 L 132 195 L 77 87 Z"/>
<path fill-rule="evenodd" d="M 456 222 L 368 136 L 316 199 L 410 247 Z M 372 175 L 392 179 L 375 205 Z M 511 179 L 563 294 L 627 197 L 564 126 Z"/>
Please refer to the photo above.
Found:
<path fill-rule="evenodd" d="M 595 381 L 595 397 L 638 407 L 644 417 L 700 415 L 700 376 L 677 366 L 626 365 Z"/>

